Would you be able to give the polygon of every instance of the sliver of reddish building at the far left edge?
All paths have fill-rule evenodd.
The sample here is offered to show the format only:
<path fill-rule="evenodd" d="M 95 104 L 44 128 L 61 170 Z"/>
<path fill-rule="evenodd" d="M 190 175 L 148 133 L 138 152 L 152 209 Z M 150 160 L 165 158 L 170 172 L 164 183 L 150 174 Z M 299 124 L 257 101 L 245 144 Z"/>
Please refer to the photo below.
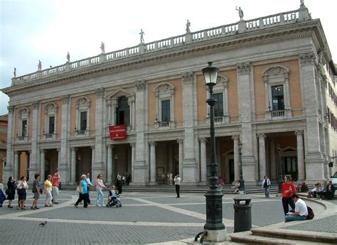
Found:
<path fill-rule="evenodd" d="M 6 164 L 6 148 L 7 148 L 7 125 L 8 115 L 0 116 L 0 183 L 5 182 L 4 165 Z"/>

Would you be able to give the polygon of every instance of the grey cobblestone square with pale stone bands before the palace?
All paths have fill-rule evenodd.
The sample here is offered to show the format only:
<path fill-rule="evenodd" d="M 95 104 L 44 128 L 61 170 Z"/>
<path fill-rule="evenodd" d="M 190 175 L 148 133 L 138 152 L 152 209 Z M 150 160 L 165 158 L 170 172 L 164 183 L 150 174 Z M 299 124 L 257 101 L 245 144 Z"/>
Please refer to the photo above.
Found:
<path fill-rule="evenodd" d="M 237 196 L 223 197 L 223 218 L 228 233 L 234 229 L 232 198 Z M 284 221 L 279 198 L 249 196 L 253 226 Z M 181 193 L 181 198 L 176 198 L 172 192 L 124 192 L 123 207 L 107 208 L 95 206 L 96 194 L 91 192 L 94 205 L 87 209 L 73 206 L 77 200 L 74 191 L 62 191 L 58 198 L 60 204 L 54 207 L 43 207 L 43 195 L 39 210 L 30 209 L 32 197 L 28 193 L 27 210 L 9 209 L 6 202 L 0 208 L 0 244 L 149 244 L 189 239 L 203 231 L 205 224 L 205 197 L 201 193 Z M 317 204 L 311 207 L 323 210 Z M 44 221 L 47 221 L 45 227 L 38 225 Z"/>

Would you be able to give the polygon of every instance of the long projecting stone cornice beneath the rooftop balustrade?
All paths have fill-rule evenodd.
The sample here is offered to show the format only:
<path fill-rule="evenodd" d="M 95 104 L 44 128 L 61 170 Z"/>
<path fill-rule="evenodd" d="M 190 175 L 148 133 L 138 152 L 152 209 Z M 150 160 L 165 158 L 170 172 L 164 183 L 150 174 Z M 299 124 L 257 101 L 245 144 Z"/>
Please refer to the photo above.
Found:
<path fill-rule="evenodd" d="M 291 26 L 294 27 L 294 24 L 289 26 L 282 26 L 287 27 L 288 30 L 279 31 L 276 33 L 271 33 L 271 31 L 273 31 L 274 29 L 270 28 L 265 30 L 258 30 L 268 32 L 264 35 L 261 35 L 260 32 L 255 31 L 250 33 L 238 34 L 236 36 L 226 36 L 213 40 L 205 40 L 204 42 L 200 43 L 191 43 L 191 45 L 186 45 L 186 49 L 184 50 L 181 50 L 181 47 L 171 48 L 168 50 L 164 50 L 163 52 L 158 51 L 154 53 L 149 53 L 147 55 L 140 55 L 139 57 L 125 58 L 123 60 L 118 60 L 117 62 L 106 62 L 102 64 L 102 67 L 100 67 L 100 65 L 85 67 L 83 68 L 83 70 L 65 72 L 61 75 L 55 75 L 54 77 L 41 78 L 41 80 L 36 80 L 28 82 L 27 84 L 21 84 L 12 87 L 6 87 L 1 90 L 6 94 L 12 94 L 16 92 L 21 92 L 26 89 L 35 89 L 36 87 L 43 87 L 46 85 L 55 84 L 57 82 L 77 80 L 79 78 L 92 75 L 102 76 L 102 74 L 108 75 L 114 72 L 127 72 L 129 70 L 138 70 L 144 67 L 151 67 L 153 65 L 162 65 L 170 62 L 187 60 L 189 58 L 198 58 L 200 56 L 213 55 L 219 52 L 240 50 L 254 46 L 279 43 L 284 40 L 308 38 L 313 35 L 312 30 L 315 30 L 318 27 L 317 25 L 313 25 L 306 27 L 300 26 L 298 28 L 289 29 Z M 300 31 L 298 30 L 299 28 L 301 29 Z M 255 36 L 252 36 L 252 34 L 254 34 Z M 96 70 L 93 70 L 93 68 Z"/>

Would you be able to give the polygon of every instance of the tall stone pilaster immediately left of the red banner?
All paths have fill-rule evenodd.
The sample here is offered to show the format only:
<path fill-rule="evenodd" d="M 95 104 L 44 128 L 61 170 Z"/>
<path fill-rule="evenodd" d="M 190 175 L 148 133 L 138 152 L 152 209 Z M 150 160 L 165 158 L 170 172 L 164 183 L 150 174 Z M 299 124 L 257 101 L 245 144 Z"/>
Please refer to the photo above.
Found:
<path fill-rule="evenodd" d="M 95 148 L 92 149 L 92 176 L 103 173 L 103 144 L 105 132 L 104 121 L 105 113 L 103 111 L 105 88 L 95 89 L 96 93 L 96 111 L 95 111 Z"/>

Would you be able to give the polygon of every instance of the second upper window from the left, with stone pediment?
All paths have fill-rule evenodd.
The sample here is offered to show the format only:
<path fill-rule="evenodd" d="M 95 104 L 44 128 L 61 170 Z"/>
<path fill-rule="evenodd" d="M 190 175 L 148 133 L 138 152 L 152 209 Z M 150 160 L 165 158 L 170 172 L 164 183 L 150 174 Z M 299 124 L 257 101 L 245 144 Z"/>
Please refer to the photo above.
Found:
<path fill-rule="evenodd" d="M 58 105 L 50 102 L 46 104 L 45 107 L 45 125 L 46 129 L 43 134 L 46 139 L 56 139 L 56 124 L 57 124 L 57 115 L 58 115 Z"/>

